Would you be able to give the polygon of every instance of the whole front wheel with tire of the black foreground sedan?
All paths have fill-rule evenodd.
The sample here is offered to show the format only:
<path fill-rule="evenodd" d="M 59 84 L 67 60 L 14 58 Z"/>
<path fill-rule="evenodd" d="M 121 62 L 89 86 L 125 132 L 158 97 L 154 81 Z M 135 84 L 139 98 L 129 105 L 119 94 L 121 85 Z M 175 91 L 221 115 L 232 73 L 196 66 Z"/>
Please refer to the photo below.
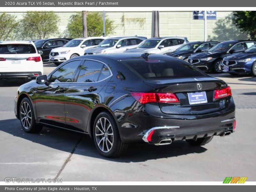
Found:
<path fill-rule="evenodd" d="M 28 133 L 40 132 L 43 126 L 36 124 L 34 110 L 30 100 L 25 97 L 20 103 L 20 124 Z"/>

